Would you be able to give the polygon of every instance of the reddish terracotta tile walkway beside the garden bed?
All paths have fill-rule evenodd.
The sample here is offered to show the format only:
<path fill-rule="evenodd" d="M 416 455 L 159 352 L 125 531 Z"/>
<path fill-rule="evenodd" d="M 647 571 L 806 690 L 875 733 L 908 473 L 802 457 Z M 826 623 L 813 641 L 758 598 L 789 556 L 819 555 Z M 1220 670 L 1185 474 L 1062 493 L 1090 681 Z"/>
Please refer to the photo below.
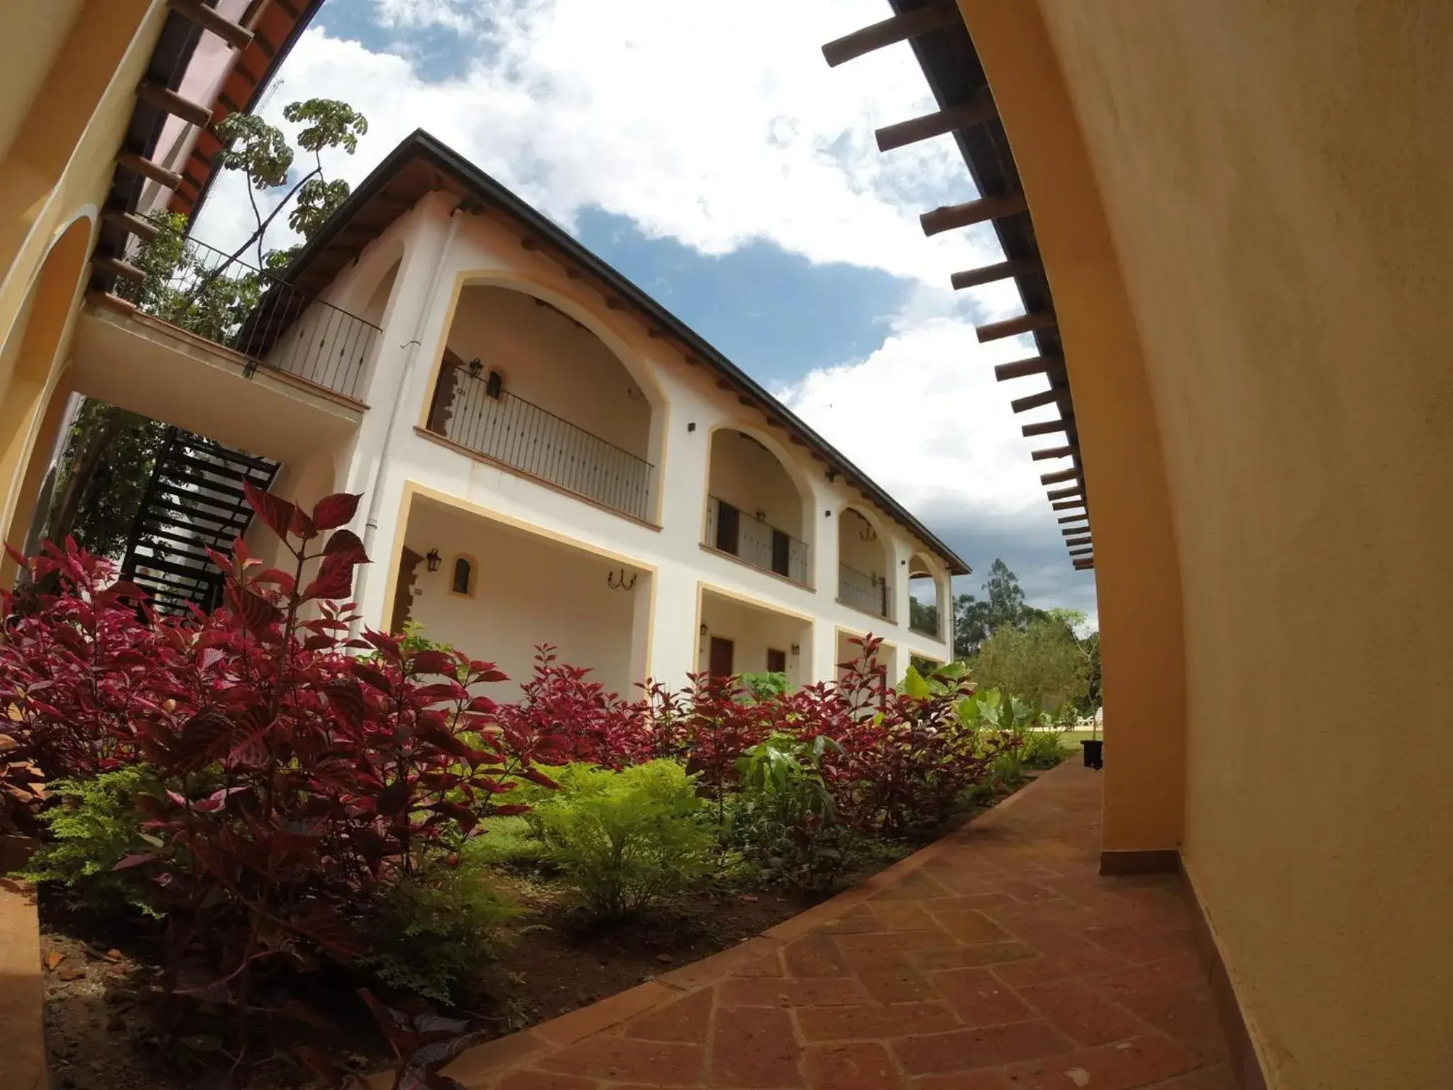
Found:
<path fill-rule="evenodd" d="M 1234 1090 L 1175 878 L 1064 764 L 764 936 L 465 1054 L 471 1090 Z"/>

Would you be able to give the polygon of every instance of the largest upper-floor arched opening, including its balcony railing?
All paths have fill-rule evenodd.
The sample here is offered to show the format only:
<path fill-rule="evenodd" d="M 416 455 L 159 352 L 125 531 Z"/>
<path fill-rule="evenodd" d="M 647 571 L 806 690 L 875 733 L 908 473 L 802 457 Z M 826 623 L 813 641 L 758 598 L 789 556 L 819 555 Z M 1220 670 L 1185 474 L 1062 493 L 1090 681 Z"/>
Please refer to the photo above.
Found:
<path fill-rule="evenodd" d="M 459 292 L 426 426 L 503 467 L 649 520 L 660 401 L 552 302 L 471 283 Z"/>

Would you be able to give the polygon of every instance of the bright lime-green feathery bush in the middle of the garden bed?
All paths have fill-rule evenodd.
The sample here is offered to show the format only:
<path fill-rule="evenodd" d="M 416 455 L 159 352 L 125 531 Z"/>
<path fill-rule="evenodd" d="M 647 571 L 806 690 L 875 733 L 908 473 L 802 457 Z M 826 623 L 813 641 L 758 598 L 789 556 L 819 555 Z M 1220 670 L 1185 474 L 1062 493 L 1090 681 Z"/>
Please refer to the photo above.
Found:
<path fill-rule="evenodd" d="M 530 792 L 529 821 L 594 916 L 632 916 L 708 872 L 703 801 L 674 760 L 622 772 L 567 764 L 555 779 L 559 791 Z"/>

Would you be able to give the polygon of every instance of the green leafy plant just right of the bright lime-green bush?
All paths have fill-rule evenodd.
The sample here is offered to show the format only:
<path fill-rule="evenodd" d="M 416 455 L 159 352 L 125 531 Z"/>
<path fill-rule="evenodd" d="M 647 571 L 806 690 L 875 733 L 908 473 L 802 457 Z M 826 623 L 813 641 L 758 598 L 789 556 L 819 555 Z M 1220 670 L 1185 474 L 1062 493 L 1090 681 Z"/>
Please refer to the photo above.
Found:
<path fill-rule="evenodd" d="M 822 759 L 843 747 L 827 735 L 773 734 L 737 762 L 741 792 L 722 823 L 722 841 L 769 879 L 801 889 L 830 885 L 847 863 L 854 833 L 838 821 Z"/>

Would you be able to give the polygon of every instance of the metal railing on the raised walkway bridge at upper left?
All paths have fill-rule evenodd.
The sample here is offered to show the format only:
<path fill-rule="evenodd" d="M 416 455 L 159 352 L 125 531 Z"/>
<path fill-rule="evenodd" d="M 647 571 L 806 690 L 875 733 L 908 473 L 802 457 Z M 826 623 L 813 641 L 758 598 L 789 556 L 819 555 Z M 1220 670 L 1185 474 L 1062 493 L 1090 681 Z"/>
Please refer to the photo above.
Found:
<path fill-rule="evenodd" d="M 254 366 L 359 397 L 379 336 L 373 323 L 167 230 L 134 263 L 147 279 L 121 280 L 116 294 L 142 314 L 238 352 Z"/>

